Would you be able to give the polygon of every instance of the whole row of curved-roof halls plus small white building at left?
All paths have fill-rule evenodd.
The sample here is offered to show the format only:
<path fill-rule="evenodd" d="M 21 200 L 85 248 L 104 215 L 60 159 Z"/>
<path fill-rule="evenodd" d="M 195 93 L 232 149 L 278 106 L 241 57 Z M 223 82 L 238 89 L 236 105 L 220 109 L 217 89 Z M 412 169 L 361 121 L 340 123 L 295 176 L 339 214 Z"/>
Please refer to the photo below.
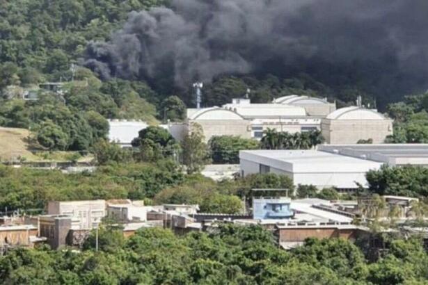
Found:
<path fill-rule="evenodd" d="M 109 138 L 122 147 L 131 146 L 138 131 L 148 124 L 138 121 L 111 120 Z M 356 143 L 372 139 L 382 143 L 393 133 L 393 121 L 374 109 L 360 104 L 336 110 L 327 99 L 289 95 L 271 103 L 254 104 L 248 98 L 232 99 L 230 104 L 209 108 L 188 108 L 184 122 L 167 122 L 161 127 L 182 140 L 198 124 L 208 141 L 212 136 L 240 136 L 260 140 L 264 132 L 300 133 L 322 131 L 328 144 Z"/>

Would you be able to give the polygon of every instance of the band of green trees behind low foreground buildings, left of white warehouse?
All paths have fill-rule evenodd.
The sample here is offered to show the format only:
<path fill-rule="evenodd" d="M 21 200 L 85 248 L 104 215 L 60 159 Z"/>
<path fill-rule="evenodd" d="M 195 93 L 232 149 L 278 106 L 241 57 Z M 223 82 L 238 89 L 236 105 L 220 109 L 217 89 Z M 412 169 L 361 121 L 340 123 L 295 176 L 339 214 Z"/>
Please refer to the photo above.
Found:
<path fill-rule="evenodd" d="M 253 174 L 213 181 L 200 174 L 183 174 L 172 161 L 109 163 L 94 172 L 64 174 L 57 170 L 0 167 L 0 209 L 42 211 L 51 200 L 145 199 L 151 203 L 199 204 L 201 211 L 239 213 L 253 188 L 285 188 L 290 178 Z M 257 193 L 263 195 L 263 193 Z M 285 193 L 278 193 L 278 195 Z"/>

